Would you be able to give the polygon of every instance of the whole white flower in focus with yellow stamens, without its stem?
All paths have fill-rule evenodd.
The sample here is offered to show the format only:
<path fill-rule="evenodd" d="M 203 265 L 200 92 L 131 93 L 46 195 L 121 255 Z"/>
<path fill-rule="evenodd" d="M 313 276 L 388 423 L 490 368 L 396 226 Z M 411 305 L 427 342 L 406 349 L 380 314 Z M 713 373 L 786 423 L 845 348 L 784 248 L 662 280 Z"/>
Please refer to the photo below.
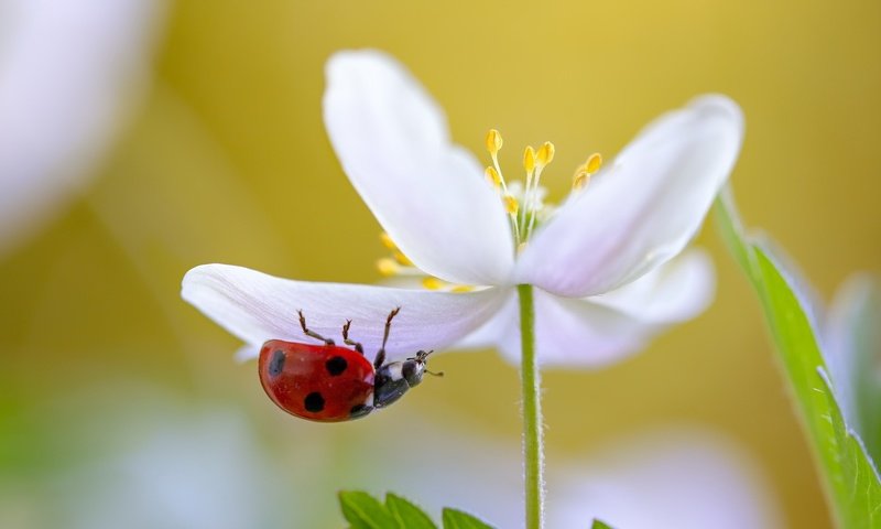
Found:
<path fill-rule="evenodd" d="M 249 350 L 269 338 L 303 341 L 297 309 L 325 335 L 351 319 L 352 334 L 376 350 L 385 315 L 400 305 L 391 357 L 492 344 L 518 358 L 514 287 L 531 283 L 540 361 L 596 366 L 709 302 L 707 258 L 671 259 L 698 230 L 737 158 L 742 117 L 731 100 L 705 96 L 662 116 L 599 172 L 592 162 L 581 168 L 589 185 L 580 188 L 583 179 L 545 218 L 529 196 L 540 193 L 553 145 L 533 151 L 513 214 L 503 185 L 488 183 L 475 158 L 450 142 L 440 108 L 394 60 L 338 53 L 327 79 L 325 125 L 342 168 L 396 245 L 401 271 L 427 276 L 431 289 L 292 281 L 226 264 L 191 270 L 183 298 Z M 500 145 L 500 136 L 488 137 L 493 162 Z M 493 163 L 486 174 L 500 169 Z"/>

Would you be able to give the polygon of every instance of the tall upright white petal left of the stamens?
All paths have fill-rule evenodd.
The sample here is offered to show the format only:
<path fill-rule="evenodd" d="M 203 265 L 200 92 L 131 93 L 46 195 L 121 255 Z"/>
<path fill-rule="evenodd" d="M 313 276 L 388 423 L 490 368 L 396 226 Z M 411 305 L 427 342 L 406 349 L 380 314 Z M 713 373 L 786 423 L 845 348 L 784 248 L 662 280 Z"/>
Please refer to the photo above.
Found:
<path fill-rule="evenodd" d="M 401 250 L 447 281 L 507 283 L 513 242 L 501 201 L 418 82 L 388 55 L 359 51 L 334 55 L 327 83 L 330 142 Z"/>

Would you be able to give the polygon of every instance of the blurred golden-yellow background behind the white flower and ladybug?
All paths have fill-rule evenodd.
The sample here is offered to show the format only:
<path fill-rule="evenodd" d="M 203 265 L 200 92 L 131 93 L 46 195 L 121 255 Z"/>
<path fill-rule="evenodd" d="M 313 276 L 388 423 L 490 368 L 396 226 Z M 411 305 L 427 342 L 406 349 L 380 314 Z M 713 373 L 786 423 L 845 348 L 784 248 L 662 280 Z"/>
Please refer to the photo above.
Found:
<path fill-rule="evenodd" d="M 611 159 L 659 114 L 727 94 L 747 118 L 732 182 L 748 224 L 826 300 L 851 271 L 881 269 L 878 1 L 178 1 L 160 25 L 152 86 L 93 184 L 0 260 L 0 509 L 22 527 L 53 527 L 39 514 L 55 497 L 45 484 L 98 461 L 108 439 L 141 435 L 120 425 L 154 413 L 156 393 L 170 409 L 241 412 L 272 453 L 326 428 L 357 460 L 362 429 L 401 409 L 519 440 L 518 374 L 492 352 L 437 357 L 447 377 L 372 425 L 295 422 L 253 365 L 232 361 L 237 341 L 180 300 L 184 272 L 205 262 L 378 279 L 380 228 L 322 122 L 323 65 L 340 48 L 401 60 L 482 158 L 489 128 L 513 147 L 504 166 L 553 141 L 556 198 L 587 154 Z M 706 425 L 757 460 L 786 526 L 828 527 L 753 293 L 711 222 L 697 242 L 719 276 L 705 315 L 611 368 L 545 374 L 548 464 L 646 427 Z M 319 472 L 348 486 L 346 465 Z M 334 520 L 333 496 L 320 501 Z"/>

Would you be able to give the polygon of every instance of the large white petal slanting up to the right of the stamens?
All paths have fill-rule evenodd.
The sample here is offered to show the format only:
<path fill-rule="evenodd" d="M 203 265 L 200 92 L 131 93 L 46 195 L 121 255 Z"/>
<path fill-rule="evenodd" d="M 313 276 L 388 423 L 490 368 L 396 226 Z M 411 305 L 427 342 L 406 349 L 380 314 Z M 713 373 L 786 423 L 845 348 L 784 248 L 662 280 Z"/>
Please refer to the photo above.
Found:
<path fill-rule="evenodd" d="M 700 227 L 742 132 L 740 109 L 724 96 L 662 116 L 535 234 L 516 281 L 583 298 L 667 261 Z"/>

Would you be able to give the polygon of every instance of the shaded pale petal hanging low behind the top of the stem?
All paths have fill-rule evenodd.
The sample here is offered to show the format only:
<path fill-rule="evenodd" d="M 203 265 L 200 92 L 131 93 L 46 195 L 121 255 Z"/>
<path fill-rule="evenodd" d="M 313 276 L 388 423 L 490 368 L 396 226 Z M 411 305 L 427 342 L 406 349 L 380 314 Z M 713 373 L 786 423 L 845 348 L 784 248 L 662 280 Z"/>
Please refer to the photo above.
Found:
<path fill-rule="evenodd" d="M 535 289 L 535 347 L 546 367 L 599 368 L 643 348 L 665 325 L 640 321 L 588 300 L 558 298 Z M 499 347 L 520 363 L 520 315 L 515 296 L 455 347 Z"/>

